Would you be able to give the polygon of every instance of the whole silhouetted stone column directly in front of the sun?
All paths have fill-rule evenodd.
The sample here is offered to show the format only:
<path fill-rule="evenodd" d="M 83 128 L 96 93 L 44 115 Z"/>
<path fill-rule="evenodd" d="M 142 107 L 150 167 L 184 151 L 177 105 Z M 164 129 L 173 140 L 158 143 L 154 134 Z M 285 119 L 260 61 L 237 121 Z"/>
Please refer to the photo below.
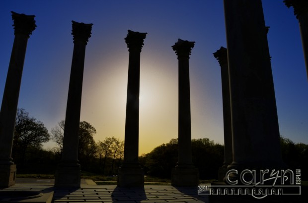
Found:
<path fill-rule="evenodd" d="M 129 51 L 125 120 L 124 160 L 119 168 L 119 187 L 143 187 L 144 171 L 138 161 L 140 53 L 147 33 L 128 30 L 125 42 Z"/>

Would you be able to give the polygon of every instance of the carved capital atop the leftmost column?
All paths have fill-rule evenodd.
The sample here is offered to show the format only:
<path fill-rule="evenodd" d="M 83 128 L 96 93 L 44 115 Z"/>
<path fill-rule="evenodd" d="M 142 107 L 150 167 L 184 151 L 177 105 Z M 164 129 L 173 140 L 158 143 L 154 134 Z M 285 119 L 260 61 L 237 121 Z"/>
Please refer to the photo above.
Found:
<path fill-rule="evenodd" d="M 13 26 L 14 26 L 14 35 L 17 33 L 21 33 L 24 35 L 27 35 L 29 38 L 32 34 L 32 31 L 35 30 L 35 15 L 25 15 L 25 14 L 19 14 L 15 13 L 14 11 L 11 11 L 12 13 L 12 19 L 13 19 Z"/>

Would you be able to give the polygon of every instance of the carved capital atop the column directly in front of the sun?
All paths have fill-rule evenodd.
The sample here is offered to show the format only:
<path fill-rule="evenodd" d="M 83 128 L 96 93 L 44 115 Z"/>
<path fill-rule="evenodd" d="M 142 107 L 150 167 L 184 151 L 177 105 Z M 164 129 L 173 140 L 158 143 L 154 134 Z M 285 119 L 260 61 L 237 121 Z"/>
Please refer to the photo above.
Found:
<path fill-rule="evenodd" d="M 128 30 L 125 43 L 127 44 L 128 51 L 136 50 L 141 52 L 142 46 L 144 45 L 144 39 L 148 33 L 140 33 Z"/>

